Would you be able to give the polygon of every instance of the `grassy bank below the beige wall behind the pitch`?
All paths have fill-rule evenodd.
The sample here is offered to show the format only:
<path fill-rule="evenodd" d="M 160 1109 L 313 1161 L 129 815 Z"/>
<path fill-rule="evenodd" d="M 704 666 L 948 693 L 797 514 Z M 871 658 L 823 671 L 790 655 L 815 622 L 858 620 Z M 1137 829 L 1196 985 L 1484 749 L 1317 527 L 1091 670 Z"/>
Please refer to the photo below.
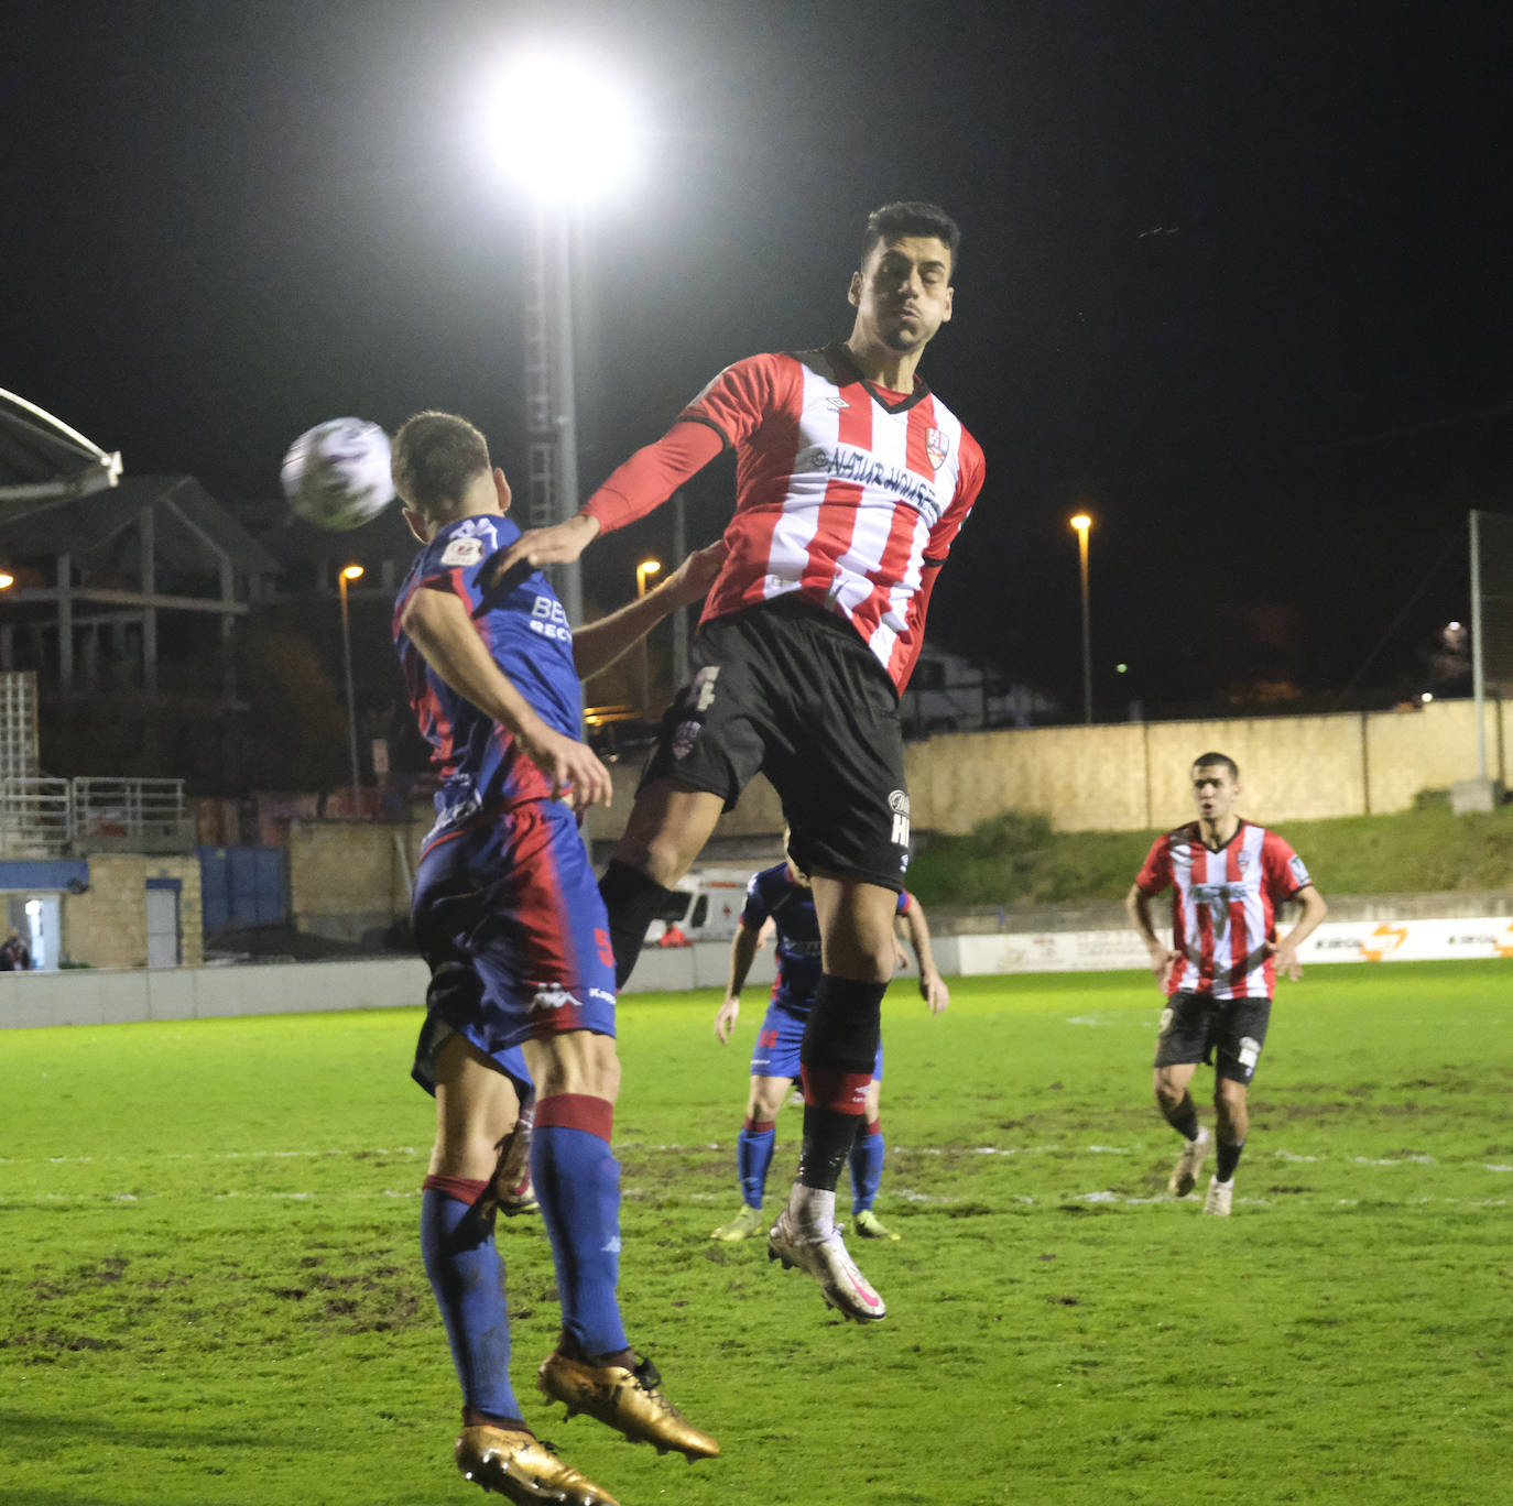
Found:
<path fill-rule="evenodd" d="M 1424 894 L 1513 888 L 1513 806 L 1454 815 L 1288 821 L 1288 841 L 1328 894 Z M 1154 832 L 1053 832 L 1045 817 L 1006 812 L 915 853 L 909 888 L 935 904 L 1061 904 L 1123 900 Z"/>

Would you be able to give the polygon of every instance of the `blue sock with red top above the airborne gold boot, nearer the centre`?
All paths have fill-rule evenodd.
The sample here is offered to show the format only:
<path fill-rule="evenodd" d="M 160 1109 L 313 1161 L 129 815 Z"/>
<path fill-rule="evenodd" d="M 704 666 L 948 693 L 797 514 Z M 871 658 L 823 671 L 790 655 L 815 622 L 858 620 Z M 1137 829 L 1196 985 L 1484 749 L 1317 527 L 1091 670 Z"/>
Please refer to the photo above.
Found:
<path fill-rule="evenodd" d="M 536 1105 L 531 1179 L 552 1241 L 563 1334 L 581 1356 L 629 1349 L 614 1288 L 620 1279 L 620 1163 L 602 1098 L 554 1093 Z"/>

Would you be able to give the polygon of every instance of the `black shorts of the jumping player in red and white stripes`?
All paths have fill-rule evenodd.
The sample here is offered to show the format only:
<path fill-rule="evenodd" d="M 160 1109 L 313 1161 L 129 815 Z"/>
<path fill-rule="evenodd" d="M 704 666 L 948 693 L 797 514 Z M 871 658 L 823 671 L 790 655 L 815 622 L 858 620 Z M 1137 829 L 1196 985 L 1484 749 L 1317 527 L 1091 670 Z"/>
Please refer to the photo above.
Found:
<path fill-rule="evenodd" d="M 909 797 L 893 680 L 856 629 L 797 596 L 705 624 L 642 785 L 670 779 L 731 810 L 761 771 L 805 871 L 894 892 L 909 865 Z"/>

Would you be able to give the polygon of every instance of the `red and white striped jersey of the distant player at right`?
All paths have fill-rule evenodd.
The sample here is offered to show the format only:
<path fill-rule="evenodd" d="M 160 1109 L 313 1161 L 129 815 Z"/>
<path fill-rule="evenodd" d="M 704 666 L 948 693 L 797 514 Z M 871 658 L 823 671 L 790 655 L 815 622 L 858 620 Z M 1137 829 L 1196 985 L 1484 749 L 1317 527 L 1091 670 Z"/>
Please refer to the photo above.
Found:
<path fill-rule="evenodd" d="M 1145 895 L 1176 889 L 1171 944 L 1182 962 L 1167 992 L 1271 998 L 1275 968 L 1266 942 L 1277 934 L 1277 906 L 1312 882 L 1275 832 L 1250 821 L 1216 853 L 1203 845 L 1197 821 L 1157 836 L 1135 883 Z"/>

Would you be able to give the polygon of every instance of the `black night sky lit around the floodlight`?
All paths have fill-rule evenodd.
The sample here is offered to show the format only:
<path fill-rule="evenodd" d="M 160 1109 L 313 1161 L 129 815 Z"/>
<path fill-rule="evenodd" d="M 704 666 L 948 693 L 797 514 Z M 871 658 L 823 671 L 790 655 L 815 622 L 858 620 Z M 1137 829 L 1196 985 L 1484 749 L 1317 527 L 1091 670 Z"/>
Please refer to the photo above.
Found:
<path fill-rule="evenodd" d="M 511 469 L 523 203 L 480 101 L 530 8 L 26 11 L 0 386 L 231 505 L 343 413 L 452 408 Z M 1247 680 L 1390 693 L 1468 615 L 1466 511 L 1513 511 L 1504 6 L 534 14 L 613 59 L 655 133 L 587 225 L 586 487 L 729 361 L 844 336 L 867 212 L 929 198 L 964 245 L 921 370 L 988 457 L 940 643 L 1077 703 L 1077 504 L 1104 715 Z M 696 482 L 696 538 L 729 476 Z M 638 531 L 590 550 L 592 597 L 666 547 Z"/>

